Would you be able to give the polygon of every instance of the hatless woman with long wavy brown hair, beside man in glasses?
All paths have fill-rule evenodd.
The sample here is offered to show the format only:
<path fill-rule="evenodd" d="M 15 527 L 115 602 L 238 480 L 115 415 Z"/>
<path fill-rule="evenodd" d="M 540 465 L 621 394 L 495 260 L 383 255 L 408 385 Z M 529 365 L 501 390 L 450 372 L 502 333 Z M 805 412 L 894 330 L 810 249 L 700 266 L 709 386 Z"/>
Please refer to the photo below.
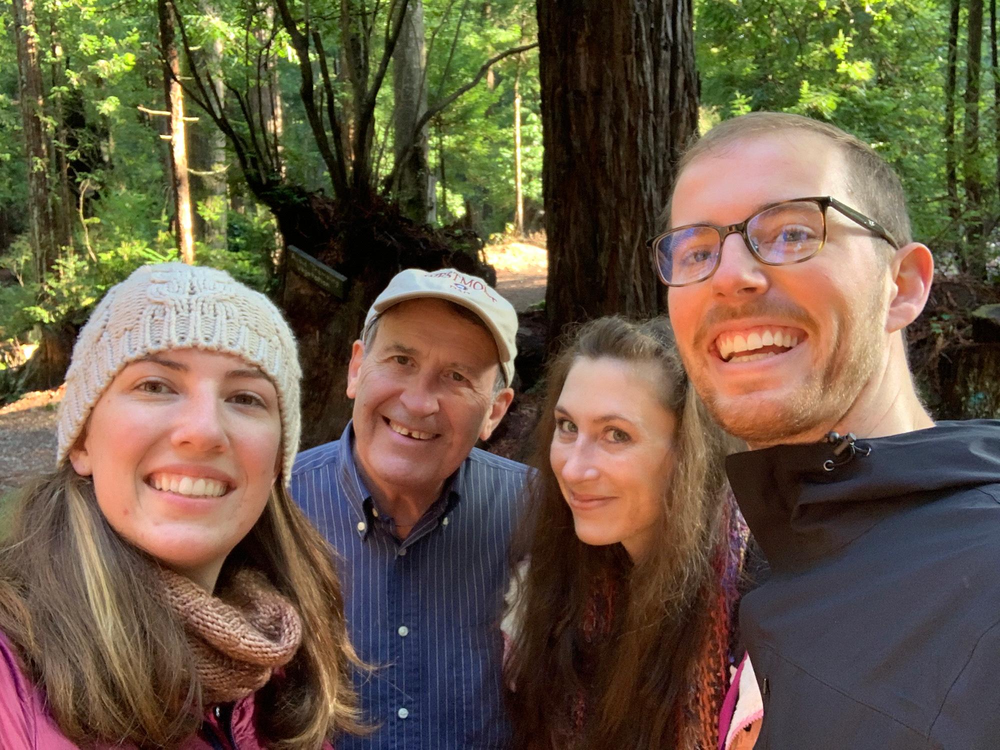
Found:
<path fill-rule="evenodd" d="M 549 366 L 507 662 L 518 750 L 715 750 L 746 528 L 669 322 Z"/>

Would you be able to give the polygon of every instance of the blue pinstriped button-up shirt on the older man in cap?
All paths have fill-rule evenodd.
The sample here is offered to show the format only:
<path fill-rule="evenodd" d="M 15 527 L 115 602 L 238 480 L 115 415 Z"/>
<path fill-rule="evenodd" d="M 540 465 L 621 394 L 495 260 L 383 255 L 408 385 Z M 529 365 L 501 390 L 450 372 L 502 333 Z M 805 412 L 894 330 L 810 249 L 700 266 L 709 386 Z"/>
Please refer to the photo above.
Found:
<path fill-rule="evenodd" d="M 399 541 L 354 464 L 353 431 L 299 454 L 292 496 L 343 556 L 351 638 L 377 666 L 356 685 L 364 739 L 337 750 L 501 750 L 507 550 L 527 468 L 477 448 Z"/>

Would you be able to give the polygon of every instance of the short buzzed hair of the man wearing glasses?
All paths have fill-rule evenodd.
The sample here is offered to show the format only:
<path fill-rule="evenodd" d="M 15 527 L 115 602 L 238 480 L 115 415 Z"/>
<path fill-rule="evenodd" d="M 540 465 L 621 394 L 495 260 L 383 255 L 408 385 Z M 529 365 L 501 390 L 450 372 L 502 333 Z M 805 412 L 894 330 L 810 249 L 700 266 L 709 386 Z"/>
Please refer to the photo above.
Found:
<path fill-rule="evenodd" d="M 723 120 L 688 146 L 677 165 L 677 174 L 679 176 L 685 167 L 696 159 L 737 141 L 794 131 L 815 133 L 833 141 L 844 154 L 848 189 L 857 200 L 856 208 L 885 227 L 900 246 L 912 241 L 910 217 L 906 212 L 906 196 L 903 194 L 899 176 L 893 168 L 864 141 L 845 133 L 835 125 L 802 115 L 786 112 L 751 112 Z M 665 219 L 669 218 L 669 211 L 668 202 Z"/>

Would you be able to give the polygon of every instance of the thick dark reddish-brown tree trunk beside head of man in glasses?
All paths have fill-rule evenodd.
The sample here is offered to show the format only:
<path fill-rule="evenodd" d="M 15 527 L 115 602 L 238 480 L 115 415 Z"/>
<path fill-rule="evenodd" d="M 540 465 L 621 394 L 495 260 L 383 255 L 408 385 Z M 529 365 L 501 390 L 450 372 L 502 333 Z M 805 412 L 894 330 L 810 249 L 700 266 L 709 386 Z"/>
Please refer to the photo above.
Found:
<path fill-rule="evenodd" d="M 567 323 L 648 316 L 645 241 L 696 132 L 691 0 L 539 0 L 549 343 Z"/>

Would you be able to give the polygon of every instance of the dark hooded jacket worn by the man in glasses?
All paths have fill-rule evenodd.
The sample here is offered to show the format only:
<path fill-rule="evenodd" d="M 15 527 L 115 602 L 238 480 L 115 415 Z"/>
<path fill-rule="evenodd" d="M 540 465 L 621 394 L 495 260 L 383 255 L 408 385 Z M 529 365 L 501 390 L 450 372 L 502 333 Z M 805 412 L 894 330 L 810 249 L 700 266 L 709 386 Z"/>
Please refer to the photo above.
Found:
<path fill-rule="evenodd" d="M 771 568 L 756 750 L 1000 750 L 1000 421 L 835 447 L 727 461 Z"/>

